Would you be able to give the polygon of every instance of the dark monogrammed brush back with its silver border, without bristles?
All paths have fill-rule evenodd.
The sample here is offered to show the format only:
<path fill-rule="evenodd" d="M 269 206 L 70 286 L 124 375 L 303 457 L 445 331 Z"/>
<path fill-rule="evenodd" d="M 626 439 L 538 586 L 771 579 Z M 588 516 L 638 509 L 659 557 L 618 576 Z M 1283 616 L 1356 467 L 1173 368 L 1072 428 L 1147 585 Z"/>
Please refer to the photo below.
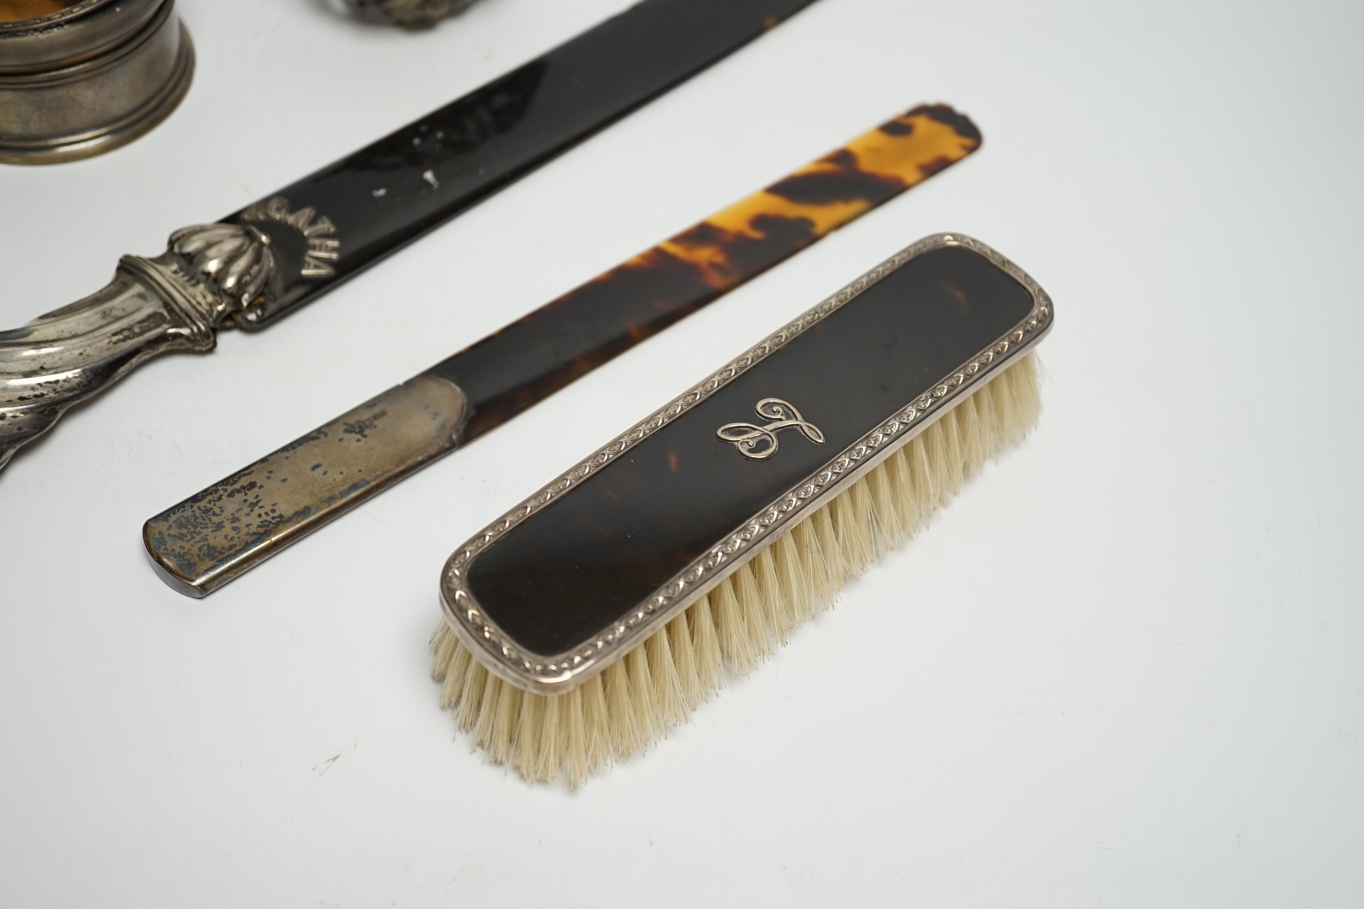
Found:
<path fill-rule="evenodd" d="M 926 237 L 466 541 L 442 574 L 446 620 L 503 681 L 569 691 L 989 383 L 1050 326 L 1050 298 L 1016 264 L 971 237 Z M 735 422 L 754 413 L 775 420 Z M 735 444 L 741 425 L 743 439 L 772 439 L 745 451 Z M 777 448 L 776 432 L 791 440 Z"/>

